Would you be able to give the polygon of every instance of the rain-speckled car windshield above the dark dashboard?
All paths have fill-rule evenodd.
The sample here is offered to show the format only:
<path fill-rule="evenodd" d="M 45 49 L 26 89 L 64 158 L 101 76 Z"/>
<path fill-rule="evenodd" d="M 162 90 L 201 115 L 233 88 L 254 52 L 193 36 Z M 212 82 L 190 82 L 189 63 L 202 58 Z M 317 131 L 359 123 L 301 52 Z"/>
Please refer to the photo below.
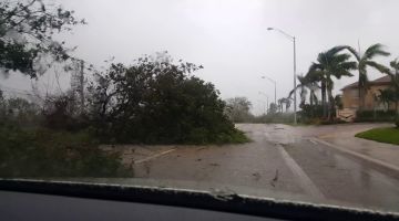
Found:
<path fill-rule="evenodd" d="M 0 177 L 399 212 L 398 8 L 1 1 Z"/>

